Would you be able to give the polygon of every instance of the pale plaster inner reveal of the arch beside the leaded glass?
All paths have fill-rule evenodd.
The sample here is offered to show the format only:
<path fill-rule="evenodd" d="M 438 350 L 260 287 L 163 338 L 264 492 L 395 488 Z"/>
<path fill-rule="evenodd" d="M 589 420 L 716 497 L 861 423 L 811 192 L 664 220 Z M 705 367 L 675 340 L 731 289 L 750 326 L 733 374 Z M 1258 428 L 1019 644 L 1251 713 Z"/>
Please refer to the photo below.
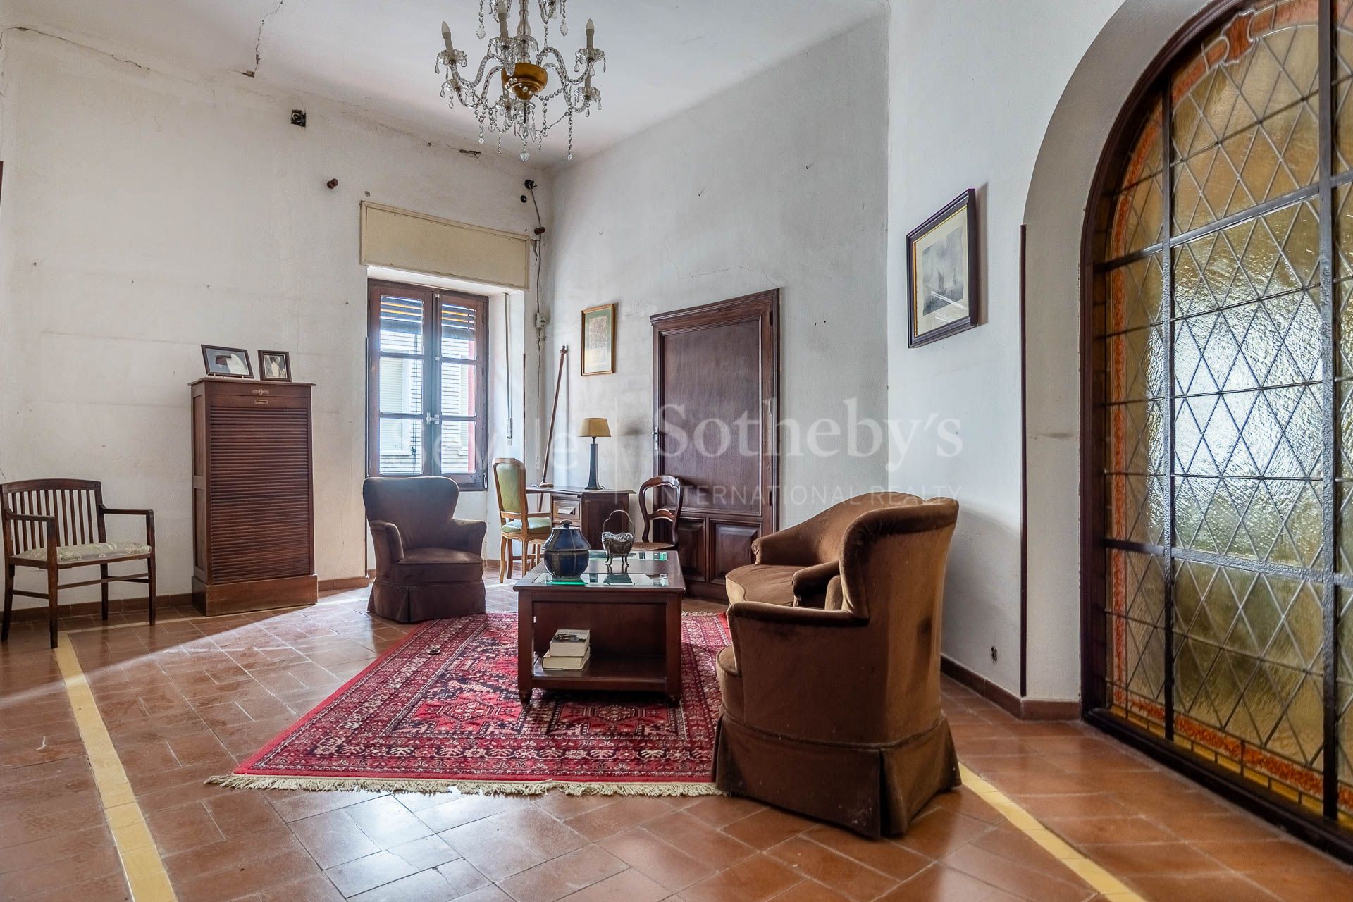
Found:
<path fill-rule="evenodd" d="M 1062 92 L 1028 189 L 1028 686 L 1035 696 L 1070 696 L 1078 686 L 1080 253 L 1091 180 L 1128 92 L 1204 5 L 1122 4 Z"/>

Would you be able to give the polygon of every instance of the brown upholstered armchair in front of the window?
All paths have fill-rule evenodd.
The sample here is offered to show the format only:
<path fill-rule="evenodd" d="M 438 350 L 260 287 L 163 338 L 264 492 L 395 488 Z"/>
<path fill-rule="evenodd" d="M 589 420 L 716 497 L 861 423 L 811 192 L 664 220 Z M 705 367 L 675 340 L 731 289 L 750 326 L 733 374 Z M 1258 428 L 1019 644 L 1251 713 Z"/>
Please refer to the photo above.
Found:
<path fill-rule="evenodd" d="M 482 521 L 456 519 L 460 487 L 445 476 L 361 484 L 376 548 L 367 610 L 400 623 L 484 613 Z"/>

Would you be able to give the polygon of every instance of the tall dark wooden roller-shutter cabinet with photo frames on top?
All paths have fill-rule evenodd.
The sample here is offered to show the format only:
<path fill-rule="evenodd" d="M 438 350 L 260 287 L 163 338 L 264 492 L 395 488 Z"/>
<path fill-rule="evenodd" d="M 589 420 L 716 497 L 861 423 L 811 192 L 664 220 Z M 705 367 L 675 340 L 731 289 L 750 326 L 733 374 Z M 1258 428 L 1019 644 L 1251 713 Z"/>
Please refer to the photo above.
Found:
<path fill-rule="evenodd" d="M 192 383 L 192 603 L 314 604 L 310 383 Z"/>

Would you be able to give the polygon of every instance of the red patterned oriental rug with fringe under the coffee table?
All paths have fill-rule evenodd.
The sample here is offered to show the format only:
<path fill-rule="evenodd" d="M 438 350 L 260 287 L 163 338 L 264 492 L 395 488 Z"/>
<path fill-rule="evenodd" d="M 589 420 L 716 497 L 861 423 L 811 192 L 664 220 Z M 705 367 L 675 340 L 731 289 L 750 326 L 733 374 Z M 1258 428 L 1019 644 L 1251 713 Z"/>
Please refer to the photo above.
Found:
<path fill-rule="evenodd" d="M 517 699 L 517 615 L 432 621 L 283 732 L 227 787 L 536 794 L 716 792 L 720 614 L 682 615 L 682 702 L 630 692 Z"/>

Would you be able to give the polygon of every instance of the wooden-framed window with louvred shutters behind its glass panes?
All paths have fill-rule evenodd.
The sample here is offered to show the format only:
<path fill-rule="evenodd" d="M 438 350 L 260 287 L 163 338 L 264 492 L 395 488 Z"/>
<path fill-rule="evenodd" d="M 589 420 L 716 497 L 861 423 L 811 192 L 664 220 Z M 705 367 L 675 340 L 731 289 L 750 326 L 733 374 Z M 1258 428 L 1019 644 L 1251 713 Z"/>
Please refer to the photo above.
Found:
<path fill-rule="evenodd" d="M 371 281 L 368 303 L 367 472 L 484 488 L 487 299 Z"/>

